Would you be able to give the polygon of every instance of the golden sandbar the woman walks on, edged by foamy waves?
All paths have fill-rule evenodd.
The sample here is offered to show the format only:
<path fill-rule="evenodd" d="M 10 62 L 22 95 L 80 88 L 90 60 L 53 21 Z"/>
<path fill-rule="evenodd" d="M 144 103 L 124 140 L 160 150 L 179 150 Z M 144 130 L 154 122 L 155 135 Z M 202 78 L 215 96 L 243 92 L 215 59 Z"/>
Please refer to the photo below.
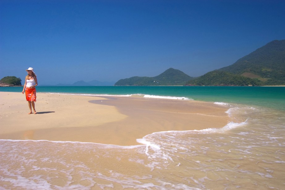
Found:
<path fill-rule="evenodd" d="M 153 132 L 219 128 L 229 121 L 227 106 L 191 100 L 37 93 L 37 114 L 28 114 L 21 92 L 0 96 L 0 139 L 135 145 Z"/>

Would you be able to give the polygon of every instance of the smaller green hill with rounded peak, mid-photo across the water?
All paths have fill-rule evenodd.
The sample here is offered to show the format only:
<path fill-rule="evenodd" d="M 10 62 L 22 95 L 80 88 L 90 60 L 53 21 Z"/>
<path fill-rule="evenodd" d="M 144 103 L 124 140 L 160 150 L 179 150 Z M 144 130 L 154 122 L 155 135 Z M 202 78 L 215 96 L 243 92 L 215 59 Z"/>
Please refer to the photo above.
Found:
<path fill-rule="evenodd" d="M 155 77 L 130 77 L 121 79 L 115 83 L 115 86 L 178 86 L 185 85 L 192 78 L 178 69 L 169 68 Z"/>

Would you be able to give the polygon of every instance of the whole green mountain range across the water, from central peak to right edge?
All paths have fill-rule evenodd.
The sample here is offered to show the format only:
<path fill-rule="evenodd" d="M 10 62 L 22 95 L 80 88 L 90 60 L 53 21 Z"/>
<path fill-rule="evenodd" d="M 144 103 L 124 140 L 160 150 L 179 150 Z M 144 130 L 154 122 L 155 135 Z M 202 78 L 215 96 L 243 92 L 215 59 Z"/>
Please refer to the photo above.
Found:
<path fill-rule="evenodd" d="M 285 85 L 285 40 L 274 40 L 236 63 L 190 77 L 169 68 L 156 77 L 130 77 L 115 86 L 281 86 Z"/>

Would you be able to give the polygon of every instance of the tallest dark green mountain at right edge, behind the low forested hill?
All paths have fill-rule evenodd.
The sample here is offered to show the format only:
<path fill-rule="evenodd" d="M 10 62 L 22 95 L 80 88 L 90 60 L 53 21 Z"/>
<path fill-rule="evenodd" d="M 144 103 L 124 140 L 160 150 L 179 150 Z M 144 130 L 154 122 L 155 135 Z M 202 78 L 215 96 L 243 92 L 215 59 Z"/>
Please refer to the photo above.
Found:
<path fill-rule="evenodd" d="M 245 77 L 257 78 L 264 85 L 285 84 L 285 40 L 274 40 L 236 63 L 220 68 Z"/>

